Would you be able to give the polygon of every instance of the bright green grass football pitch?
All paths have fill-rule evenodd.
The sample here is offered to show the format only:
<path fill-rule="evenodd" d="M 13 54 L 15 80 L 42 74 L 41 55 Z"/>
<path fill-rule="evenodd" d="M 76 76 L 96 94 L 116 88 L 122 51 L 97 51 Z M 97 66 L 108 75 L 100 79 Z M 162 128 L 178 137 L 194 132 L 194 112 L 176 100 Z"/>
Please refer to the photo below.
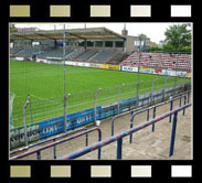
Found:
<path fill-rule="evenodd" d="M 107 71 L 87 67 L 65 66 L 65 94 L 67 114 L 94 107 L 94 95 L 97 88 L 97 106 L 117 101 L 118 86 L 123 83 L 120 99 L 136 96 L 138 74 Z M 164 87 L 166 76 L 139 74 L 139 94 L 151 92 L 151 82 L 159 78 L 155 89 Z M 182 84 L 182 78 L 178 78 Z M 167 87 L 174 86 L 174 78 L 167 80 Z M 63 65 L 42 64 L 33 62 L 10 61 L 10 93 L 14 94 L 12 120 L 14 127 L 23 125 L 23 105 L 30 99 L 26 107 L 28 123 L 59 117 L 63 111 L 64 68 Z M 30 98 L 29 98 L 30 96 Z"/>

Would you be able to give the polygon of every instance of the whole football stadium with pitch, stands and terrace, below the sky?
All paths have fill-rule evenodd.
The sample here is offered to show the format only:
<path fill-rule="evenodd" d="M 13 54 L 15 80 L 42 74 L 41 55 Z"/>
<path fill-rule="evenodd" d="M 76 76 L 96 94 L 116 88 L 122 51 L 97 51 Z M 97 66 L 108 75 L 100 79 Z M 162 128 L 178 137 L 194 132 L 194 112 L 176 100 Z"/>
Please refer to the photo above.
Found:
<path fill-rule="evenodd" d="M 10 159 L 191 159 L 192 54 L 150 43 L 124 24 L 11 31 Z"/>

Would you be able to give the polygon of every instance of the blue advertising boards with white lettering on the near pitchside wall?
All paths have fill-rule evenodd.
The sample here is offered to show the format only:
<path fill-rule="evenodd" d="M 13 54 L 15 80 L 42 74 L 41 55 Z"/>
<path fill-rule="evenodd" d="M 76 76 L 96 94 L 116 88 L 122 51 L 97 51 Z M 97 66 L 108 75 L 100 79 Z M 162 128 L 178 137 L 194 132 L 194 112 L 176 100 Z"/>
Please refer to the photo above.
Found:
<path fill-rule="evenodd" d="M 126 108 L 135 106 L 136 97 L 124 99 L 120 103 L 120 111 Z M 118 114 L 117 105 L 113 106 L 98 106 L 97 119 L 105 119 Z M 94 122 L 94 108 L 77 111 L 66 116 L 67 127 L 66 130 L 72 130 L 77 127 Z M 52 118 L 40 122 L 40 139 L 51 137 L 64 131 L 64 116 Z"/>

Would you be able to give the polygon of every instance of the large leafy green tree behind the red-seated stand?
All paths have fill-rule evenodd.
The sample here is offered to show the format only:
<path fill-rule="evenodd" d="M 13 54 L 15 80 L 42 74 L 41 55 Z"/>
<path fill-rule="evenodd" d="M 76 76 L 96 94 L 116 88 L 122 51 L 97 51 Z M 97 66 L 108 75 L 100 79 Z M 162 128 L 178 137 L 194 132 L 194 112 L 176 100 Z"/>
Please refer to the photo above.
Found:
<path fill-rule="evenodd" d="M 164 32 L 163 50 L 170 52 L 191 51 L 191 24 L 170 25 Z"/>

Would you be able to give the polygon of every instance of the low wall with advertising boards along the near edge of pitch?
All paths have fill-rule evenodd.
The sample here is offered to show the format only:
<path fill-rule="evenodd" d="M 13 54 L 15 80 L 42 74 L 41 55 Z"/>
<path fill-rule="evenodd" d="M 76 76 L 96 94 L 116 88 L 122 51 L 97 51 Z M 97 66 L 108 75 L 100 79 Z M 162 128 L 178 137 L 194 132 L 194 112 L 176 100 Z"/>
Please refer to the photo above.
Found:
<path fill-rule="evenodd" d="M 187 84 L 185 89 L 190 89 L 191 85 Z M 182 86 L 178 86 L 177 93 L 183 90 Z M 170 97 L 174 92 L 174 88 L 167 88 L 166 95 L 163 95 L 163 89 L 157 90 L 153 94 L 148 93 L 139 96 L 139 106 L 147 105 L 151 101 L 151 97 L 157 101 L 163 97 Z M 97 119 L 102 120 L 110 116 L 118 114 L 117 103 L 107 104 L 97 107 Z M 124 99 L 120 101 L 120 111 L 130 110 L 136 107 L 136 97 Z M 94 122 L 94 108 L 89 108 L 83 111 L 70 114 L 66 116 L 67 130 L 73 130 L 77 127 L 85 126 Z M 36 140 L 42 140 L 51 136 L 57 134 L 64 131 L 64 116 L 47 119 L 39 123 L 28 125 L 28 138 L 29 142 Z M 24 146 L 24 128 L 19 127 L 10 130 L 10 149 Z"/>

